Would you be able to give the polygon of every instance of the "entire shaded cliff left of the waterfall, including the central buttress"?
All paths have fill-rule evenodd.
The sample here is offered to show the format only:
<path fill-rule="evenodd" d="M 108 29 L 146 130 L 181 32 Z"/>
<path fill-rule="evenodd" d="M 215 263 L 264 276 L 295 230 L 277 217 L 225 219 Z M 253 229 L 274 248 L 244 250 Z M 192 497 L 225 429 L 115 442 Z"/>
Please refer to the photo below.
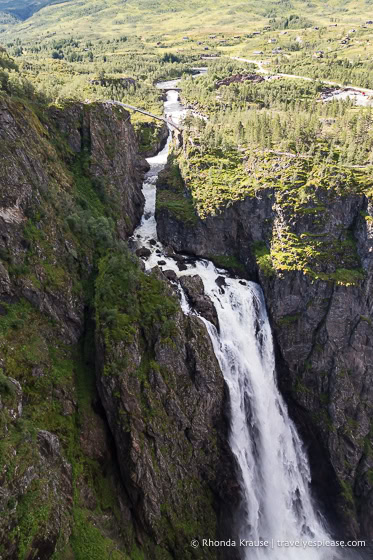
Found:
<path fill-rule="evenodd" d="M 173 557 L 234 484 L 205 327 L 125 246 L 129 115 L 1 98 L 0 142 L 0 556 Z"/>

